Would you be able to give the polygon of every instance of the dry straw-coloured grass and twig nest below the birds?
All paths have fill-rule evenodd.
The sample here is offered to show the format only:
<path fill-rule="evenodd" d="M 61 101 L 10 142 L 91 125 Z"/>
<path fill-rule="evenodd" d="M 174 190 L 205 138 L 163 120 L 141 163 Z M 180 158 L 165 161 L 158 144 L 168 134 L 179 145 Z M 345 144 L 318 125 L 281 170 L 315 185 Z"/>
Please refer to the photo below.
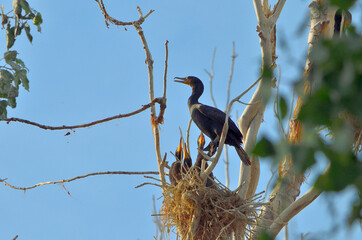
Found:
<path fill-rule="evenodd" d="M 192 172 L 192 171 L 191 171 Z M 184 175 L 177 186 L 164 189 L 161 208 L 167 233 L 176 229 L 181 239 L 228 239 L 232 232 L 250 232 L 257 210 L 264 205 L 260 194 L 243 200 L 220 183 L 206 187 L 196 173 Z"/>

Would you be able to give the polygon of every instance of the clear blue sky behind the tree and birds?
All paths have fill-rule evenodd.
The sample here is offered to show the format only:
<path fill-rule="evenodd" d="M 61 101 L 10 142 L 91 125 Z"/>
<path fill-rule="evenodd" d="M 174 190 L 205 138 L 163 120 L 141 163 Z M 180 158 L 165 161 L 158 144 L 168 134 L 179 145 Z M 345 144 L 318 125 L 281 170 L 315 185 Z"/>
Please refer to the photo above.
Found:
<path fill-rule="evenodd" d="M 275 1 L 273 1 L 275 2 Z M 107 29 L 95 1 L 30 0 L 40 11 L 42 33 L 32 29 L 33 44 L 21 36 L 13 49 L 30 69 L 30 92 L 21 90 L 18 106 L 8 111 L 19 117 L 47 125 L 91 122 L 138 109 L 149 102 L 145 55 L 137 32 L 128 27 Z M 309 1 L 287 1 L 277 25 L 281 69 L 281 92 L 291 97 L 291 87 L 304 67 L 309 28 Z M 6 10 L 11 1 L 1 1 Z M 361 2 L 353 10 L 361 23 Z M 260 46 L 252 1 L 110 1 L 105 5 L 111 16 L 123 21 L 138 18 L 136 6 L 144 13 L 155 12 L 142 25 L 154 59 L 155 96 L 162 94 L 164 43 L 169 40 L 168 98 L 165 124 L 161 126 L 162 153 L 174 151 L 180 126 L 186 132 L 189 121 L 187 98 L 191 90 L 173 82 L 175 76 L 198 76 L 205 83 L 201 101 L 211 105 L 208 77 L 213 48 L 215 59 L 214 95 L 222 109 L 230 69 L 232 42 L 238 57 L 231 97 L 244 91 L 258 77 Z M 300 31 L 302 29 L 302 31 Z M 282 48 L 280 40 L 289 44 Z M 5 31 L 0 31 L 0 52 L 5 52 Z M 247 102 L 251 93 L 242 100 Z M 232 116 L 243 111 L 233 108 Z M 0 122 L 0 178 L 17 186 L 71 178 L 90 172 L 157 170 L 150 112 L 67 131 L 45 131 L 24 124 Z M 276 138 L 278 127 L 271 110 L 265 113 L 261 134 Z M 191 152 L 196 154 L 199 130 L 191 130 Z M 230 149 L 231 188 L 237 185 L 240 161 Z M 173 161 L 169 154 L 168 161 Z M 261 159 L 258 191 L 265 189 L 270 164 Z M 313 183 L 311 171 L 302 187 Z M 224 165 L 214 174 L 224 182 Z M 0 185 L 0 239 L 152 239 L 155 234 L 152 196 L 160 189 L 134 187 L 148 180 L 141 176 L 96 176 L 66 184 L 71 197 L 59 185 L 39 187 L 26 194 Z M 347 231 L 346 218 L 351 195 L 322 195 L 289 225 L 290 239 L 311 232 L 306 239 L 360 239 L 357 224 Z M 162 199 L 157 201 L 158 208 Z M 331 229 L 338 232 L 331 232 Z M 326 235 L 329 233 L 330 235 Z M 281 237 L 280 237 L 281 239 Z"/>

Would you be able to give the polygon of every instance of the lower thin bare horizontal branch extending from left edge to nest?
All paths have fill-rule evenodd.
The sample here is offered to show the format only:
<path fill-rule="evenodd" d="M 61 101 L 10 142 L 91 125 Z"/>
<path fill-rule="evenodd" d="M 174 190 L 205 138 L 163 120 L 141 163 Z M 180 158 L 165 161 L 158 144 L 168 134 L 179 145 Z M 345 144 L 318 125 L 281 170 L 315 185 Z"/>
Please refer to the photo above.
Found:
<path fill-rule="evenodd" d="M 33 186 L 30 187 L 16 187 L 14 185 L 9 184 L 6 180 L 7 179 L 0 179 L 0 182 L 4 183 L 6 186 L 16 189 L 16 190 L 29 190 L 29 189 L 33 189 L 39 186 L 44 186 L 44 185 L 49 185 L 49 184 L 64 184 L 66 182 L 73 182 L 75 180 L 78 179 L 82 179 L 82 178 L 86 178 L 86 177 L 91 177 L 91 176 L 97 176 L 97 175 L 146 175 L 146 174 L 159 174 L 159 172 L 154 172 L 154 171 L 145 171 L 145 172 L 129 172 L 129 171 L 107 171 L 107 172 L 95 172 L 95 173 L 88 173 L 85 175 L 80 175 L 80 176 L 76 176 L 73 178 L 69 178 L 69 179 L 63 179 L 63 180 L 58 180 L 58 181 L 49 181 L 49 182 L 41 182 L 41 183 L 37 183 Z"/>

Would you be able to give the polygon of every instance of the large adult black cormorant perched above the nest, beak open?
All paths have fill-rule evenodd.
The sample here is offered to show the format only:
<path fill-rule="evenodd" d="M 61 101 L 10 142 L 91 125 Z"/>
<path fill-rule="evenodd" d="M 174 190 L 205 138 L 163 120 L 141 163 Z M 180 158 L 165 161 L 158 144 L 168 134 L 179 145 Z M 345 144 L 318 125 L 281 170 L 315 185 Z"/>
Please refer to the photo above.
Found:
<path fill-rule="evenodd" d="M 192 94 L 188 100 L 188 107 L 190 110 L 191 118 L 199 129 L 206 134 L 210 139 L 211 143 L 209 146 L 217 147 L 221 138 L 222 128 L 225 123 L 226 114 L 217 108 L 210 107 L 199 103 L 199 98 L 204 92 L 204 84 L 200 79 L 193 76 L 185 78 L 176 77 L 175 82 L 189 85 L 192 88 Z M 225 143 L 235 147 L 240 159 L 244 164 L 250 165 L 248 155 L 244 149 L 240 146 L 243 141 L 243 135 L 240 130 L 236 127 L 235 123 L 229 118 L 229 130 L 226 135 Z M 215 150 L 215 149 L 214 149 Z"/>

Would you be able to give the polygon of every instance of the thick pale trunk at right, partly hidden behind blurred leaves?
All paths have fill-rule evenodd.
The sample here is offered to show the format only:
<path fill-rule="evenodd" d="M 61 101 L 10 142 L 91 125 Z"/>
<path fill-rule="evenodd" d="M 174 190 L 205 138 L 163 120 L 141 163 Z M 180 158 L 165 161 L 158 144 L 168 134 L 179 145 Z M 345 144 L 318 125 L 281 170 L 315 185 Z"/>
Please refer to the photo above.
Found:
<path fill-rule="evenodd" d="M 309 8 L 311 11 L 311 28 L 308 37 L 308 58 L 304 69 L 305 79 L 307 79 L 311 69 L 309 58 L 311 49 L 321 34 L 325 37 L 333 35 L 334 15 L 337 10 L 335 7 L 328 6 L 325 2 L 318 0 L 312 1 Z M 272 49 L 268 51 L 272 52 Z M 309 90 L 309 87 L 309 82 L 306 81 L 305 92 Z M 288 140 L 296 144 L 299 142 L 302 133 L 301 123 L 297 120 L 301 106 L 302 98 L 299 96 L 293 119 L 290 123 L 290 134 L 288 136 Z M 293 159 L 290 156 L 286 156 L 279 168 L 279 180 L 269 195 L 267 201 L 269 204 L 262 207 L 259 213 L 260 221 L 254 226 L 257 234 L 251 236 L 251 239 L 256 239 L 256 236 L 262 231 L 268 232 L 275 238 L 292 217 L 320 195 L 321 192 L 319 190 L 311 188 L 302 197 L 297 199 L 303 180 L 304 175 L 299 175 L 294 171 Z"/>

